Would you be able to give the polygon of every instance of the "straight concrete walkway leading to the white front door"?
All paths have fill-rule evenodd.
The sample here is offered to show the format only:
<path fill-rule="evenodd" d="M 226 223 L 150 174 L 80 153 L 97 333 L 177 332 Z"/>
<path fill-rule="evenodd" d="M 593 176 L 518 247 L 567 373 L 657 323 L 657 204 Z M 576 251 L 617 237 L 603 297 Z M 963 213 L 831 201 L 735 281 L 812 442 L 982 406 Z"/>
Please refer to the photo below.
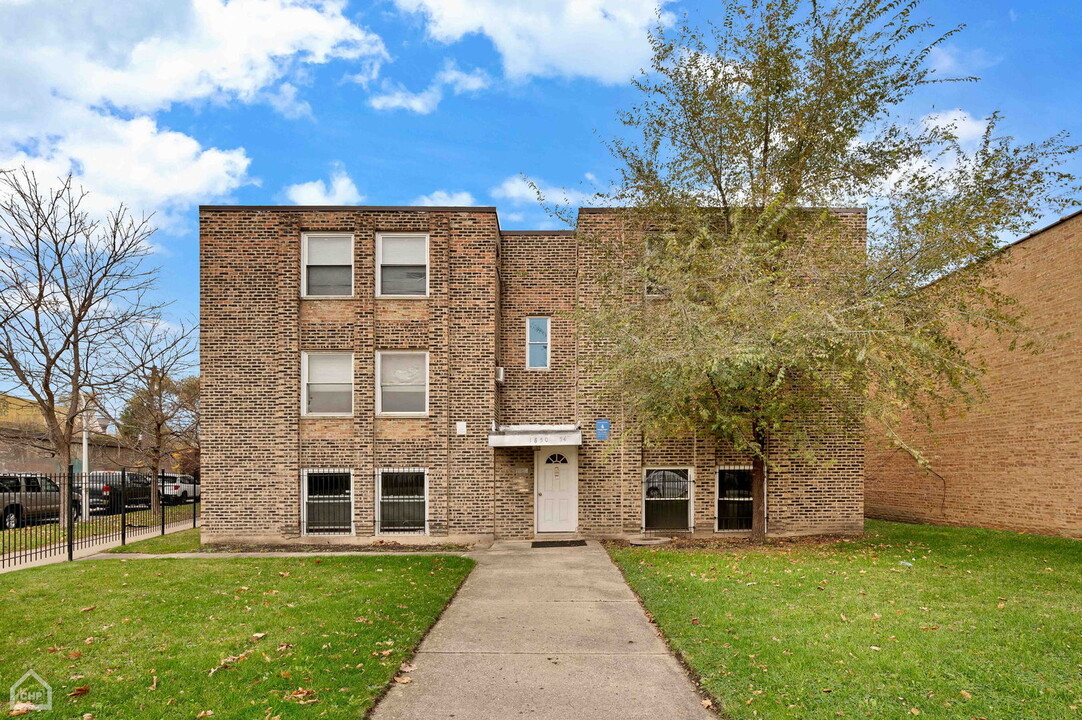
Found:
<path fill-rule="evenodd" d="M 497 542 L 375 720 L 705 720 L 714 716 L 596 542 Z"/>

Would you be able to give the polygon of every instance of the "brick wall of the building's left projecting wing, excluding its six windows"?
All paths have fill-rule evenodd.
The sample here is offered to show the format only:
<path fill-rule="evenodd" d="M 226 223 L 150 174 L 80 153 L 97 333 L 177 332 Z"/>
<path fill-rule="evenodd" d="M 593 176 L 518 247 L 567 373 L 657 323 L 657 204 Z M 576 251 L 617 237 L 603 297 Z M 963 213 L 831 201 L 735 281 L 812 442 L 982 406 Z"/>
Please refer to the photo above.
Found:
<path fill-rule="evenodd" d="M 301 299 L 308 231 L 354 234 L 353 298 Z M 375 235 L 406 231 L 430 235 L 430 297 L 377 299 Z M 207 536 L 296 537 L 301 471 L 321 468 L 353 470 L 371 535 L 374 471 L 394 467 L 428 470 L 433 535 L 491 533 L 494 213 L 203 208 L 200 235 Z M 354 353 L 352 418 L 300 417 L 300 355 L 316 350 Z M 379 350 L 428 351 L 428 417 L 374 417 Z"/>

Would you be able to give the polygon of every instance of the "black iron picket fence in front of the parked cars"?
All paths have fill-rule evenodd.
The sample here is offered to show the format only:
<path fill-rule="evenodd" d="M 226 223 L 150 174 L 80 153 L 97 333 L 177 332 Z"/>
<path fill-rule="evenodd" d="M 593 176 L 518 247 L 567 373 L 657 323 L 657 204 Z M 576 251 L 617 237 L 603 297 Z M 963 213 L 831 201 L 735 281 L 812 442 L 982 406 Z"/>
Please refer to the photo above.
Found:
<path fill-rule="evenodd" d="M 199 499 L 188 475 L 0 472 L 0 567 L 196 527 Z"/>

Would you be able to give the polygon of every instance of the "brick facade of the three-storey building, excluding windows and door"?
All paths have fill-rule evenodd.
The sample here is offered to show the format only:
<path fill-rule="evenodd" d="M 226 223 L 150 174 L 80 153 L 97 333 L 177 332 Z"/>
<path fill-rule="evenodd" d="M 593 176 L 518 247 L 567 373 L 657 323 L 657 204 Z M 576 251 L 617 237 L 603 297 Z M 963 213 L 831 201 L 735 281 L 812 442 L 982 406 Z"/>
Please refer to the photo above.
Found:
<path fill-rule="evenodd" d="M 862 215 L 860 217 L 862 221 Z M 709 437 L 644 447 L 633 433 L 594 440 L 596 418 L 625 430 L 620 405 L 583 371 L 603 351 L 576 332 L 577 305 L 597 298 L 599 259 L 580 238 L 617 232 L 606 213 L 583 213 L 580 233 L 500 234 L 485 210 L 203 208 L 201 225 L 204 533 L 209 540 L 290 540 L 300 535 L 301 473 L 348 468 L 354 523 L 375 526 L 374 471 L 427 469 L 434 536 L 533 534 L 531 448 L 488 446 L 500 423 L 578 422 L 579 528 L 642 527 L 643 469 L 694 468 L 695 518 L 714 527 L 715 469 L 739 462 Z M 301 235 L 354 235 L 354 297 L 301 299 Z M 430 297 L 374 297 L 379 232 L 430 235 Z M 526 317 L 549 315 L 551 368 L 525 367 Z M 300 415 L 303 351 L 354 353 L 354 415 Z M 374 417 L 380 350 L 430 353 L 430 415 Z M 494 368 L 506 382 L 498 388 Z M 456 423 L 466 423 L 466 434 Z M 840 433 L 831 470 L 780 462 L 771 475 L 770 527 L 778 533 L 859 531 L 862 444 Z M 775 505 L 776 502 L 776 505 Z M 856 511 L 854 511 L 856 508 Z M 334 541 L 334 540 L 331 540 Z"/>

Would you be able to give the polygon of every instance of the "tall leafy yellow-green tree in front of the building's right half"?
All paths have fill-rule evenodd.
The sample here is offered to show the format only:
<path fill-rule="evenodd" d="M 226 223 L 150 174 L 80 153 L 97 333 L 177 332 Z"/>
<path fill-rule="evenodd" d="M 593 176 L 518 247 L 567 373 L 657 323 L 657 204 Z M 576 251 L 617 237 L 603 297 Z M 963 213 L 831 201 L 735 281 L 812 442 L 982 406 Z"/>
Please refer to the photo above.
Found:
<path fill-rule="evenodd" d="M 603 290 L 582 314 L 601 376 L 647 438 L 705 431 L 753 459 L 756 540 L 776 444 L 822 458 L 822 433 L 870 420 L 920 458 L 901 418 L 979 398 L 969 351 L 1021 329 L 981 274 L 1079 192 L 1065 134 L 1019 143 L 992 115 L 963 142 L 958 114 L 906 117 L 960 80 L 927 62 L 956 29 L 919 5 L 733 0 L 705 31 L 659 27 L 610 143 L 621 232 L 592 238 Z M 856 206 L 867 244 L 830 210 Z"/>

